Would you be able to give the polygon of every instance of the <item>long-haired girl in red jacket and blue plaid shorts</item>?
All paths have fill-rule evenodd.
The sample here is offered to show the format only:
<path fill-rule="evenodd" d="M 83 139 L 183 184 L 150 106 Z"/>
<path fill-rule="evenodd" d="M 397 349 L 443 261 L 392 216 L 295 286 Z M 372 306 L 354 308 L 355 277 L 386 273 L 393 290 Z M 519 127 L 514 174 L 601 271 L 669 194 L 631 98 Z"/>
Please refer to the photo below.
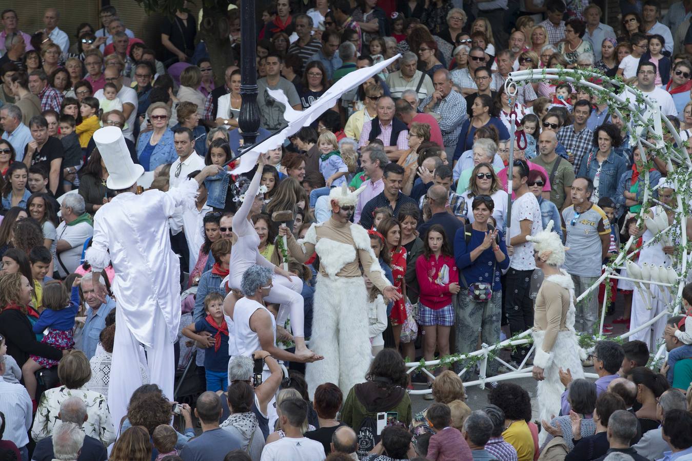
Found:
<path fill-rule="evenodd" d="M 430 226 L 423 239 L 423 254 L 416 260 L 420 285 L 419 325 L 423 327 L 423 355 L 432 360 L 435 347 L 439 355 L 449 355 L 449 330 L 454 324 L 452 296 L 459 288 L 459 272 L 450 250 L 444 227 Z M 432 379 L 428 377 L 428 385 Z"/>

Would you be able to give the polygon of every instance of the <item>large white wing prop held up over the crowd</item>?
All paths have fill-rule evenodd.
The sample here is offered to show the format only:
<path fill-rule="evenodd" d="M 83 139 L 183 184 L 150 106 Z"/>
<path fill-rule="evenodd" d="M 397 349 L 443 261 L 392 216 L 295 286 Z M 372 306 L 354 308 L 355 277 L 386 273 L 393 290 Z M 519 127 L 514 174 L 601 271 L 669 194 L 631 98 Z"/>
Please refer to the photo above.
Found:
<path fill-rule="evenodd" d="M 334 104 L 336 104 L 341 95 L 365 82 L 373 75 L 380 73 L 383 68 L 392 64 L 392 62 L 399 59 L 400 56 L 401 55 L 390 57 L 390 59 L 387 59 L 379 64 L 354 70 L 352 73 L 341 77 L 338 82 L 332 85 L 331 88 L 325 92 L 325 94 L 320 96 L 318 100 L 313 102 L 313 104 L 304 111 L 295 111 L 291 107 L 291 104 L 289 104 L 289 101 L 286 98 L 286 95 L 284 95 L 283 91 L 268 90 L 271 97 L 273 97 L 277 102 L 284 104 L 286 107 L 284 111 L 284 119 L 286 119 L 286 122 L 289 122 L 289 124 L 279 133 L 276 133 L 275 135 L 260 142 L 260 144 L 257 144 L 257 146 L 255 146 L 251 151 L 243 153 L 239 159 L 239 164 L 237 164 L 235 169 L 229 173 L 240 174 L 251 171 L 251 169 L 255 167 L 255 164 L 257 164 L 257 158 L 260 157 L 260 153 L 280 147 L 284 141 L 289 138 L 289 136 L 297 133 L 298 130 L 300 130 L 303 126 L 308 126 L 317 120 L 322 113 L 325 113 L 325 111 L 331 109 L 331 107 L 334 107 Z"/>

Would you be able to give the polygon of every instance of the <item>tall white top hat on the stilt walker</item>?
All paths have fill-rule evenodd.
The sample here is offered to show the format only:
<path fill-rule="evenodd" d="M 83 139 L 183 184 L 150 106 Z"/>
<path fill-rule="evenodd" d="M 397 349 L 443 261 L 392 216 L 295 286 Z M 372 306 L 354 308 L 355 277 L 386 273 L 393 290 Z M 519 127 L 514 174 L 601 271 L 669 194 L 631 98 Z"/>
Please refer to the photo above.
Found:
<path fill-rule="evenodd" d="M 118 191 L 134 185 L 144 167 L 132 161 L 122 131 L 117 126 L 104 126 L 93 133 L 93 140 L 108 171 L 107 187 Z"/>

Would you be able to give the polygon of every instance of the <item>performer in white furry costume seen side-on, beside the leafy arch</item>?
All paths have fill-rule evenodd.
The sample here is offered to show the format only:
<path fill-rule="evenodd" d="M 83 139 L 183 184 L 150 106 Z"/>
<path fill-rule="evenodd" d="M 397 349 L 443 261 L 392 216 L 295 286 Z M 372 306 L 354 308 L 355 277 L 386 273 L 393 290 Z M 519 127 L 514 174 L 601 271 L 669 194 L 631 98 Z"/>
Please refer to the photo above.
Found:
<path fill-rule="evenodd" d="M 534 309 L 534 379 L 538 380 L 538 419 L 552 420 L 560 413 L 561 396 L 565 386 L 559 371 L 570 369 L 574 379 L 583 378 L 581 359 L 586 358 L 579 347 L 574 331 L 574 283 L 561 266 L 565 248 L 560 236 L 551 232 L 550 221 L 545 230 L 527 240 L 534 243 L 536 267 L 543 270 L 545 279 L 538 290 Z M 545 431 L 541 432 L 545 440 Z"/>

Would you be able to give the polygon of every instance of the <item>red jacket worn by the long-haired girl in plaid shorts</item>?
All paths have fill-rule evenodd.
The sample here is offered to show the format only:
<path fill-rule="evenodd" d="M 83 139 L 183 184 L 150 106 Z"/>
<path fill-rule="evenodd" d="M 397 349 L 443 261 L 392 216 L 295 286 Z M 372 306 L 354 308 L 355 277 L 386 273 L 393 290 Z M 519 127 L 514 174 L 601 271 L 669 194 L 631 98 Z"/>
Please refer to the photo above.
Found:
<path fill-rule="evenodd" d="M 441 276 L 440 270 L 446 266 L 446 277 Z M 450 283 L 459 283 L 459 272 L 452 256 L 441 254 L 439 258 L 421 255 L 416 260 L 416 276 L 421 288 L 419 299 L 426 308 L 437 310 L 452 303 L 449 291 Z"/>

